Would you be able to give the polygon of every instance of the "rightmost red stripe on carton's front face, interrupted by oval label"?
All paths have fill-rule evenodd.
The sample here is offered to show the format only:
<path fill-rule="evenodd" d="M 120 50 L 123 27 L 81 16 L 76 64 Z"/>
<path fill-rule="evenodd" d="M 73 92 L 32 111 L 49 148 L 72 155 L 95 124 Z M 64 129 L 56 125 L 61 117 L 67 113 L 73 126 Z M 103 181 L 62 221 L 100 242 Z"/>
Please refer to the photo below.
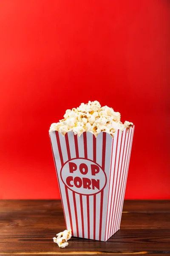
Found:
<path fill-rule="evenodd" d="M 103 132 L 103 145 L 102 145 L 102 170 L 105 172 L 105 153 L 106 153 L 106 133 Z M 102 213 L 103 213 L 103 190 L 101 192 L 100 200 L 100 224 L 99 224 L 99 240 L 102 236 Z"/>

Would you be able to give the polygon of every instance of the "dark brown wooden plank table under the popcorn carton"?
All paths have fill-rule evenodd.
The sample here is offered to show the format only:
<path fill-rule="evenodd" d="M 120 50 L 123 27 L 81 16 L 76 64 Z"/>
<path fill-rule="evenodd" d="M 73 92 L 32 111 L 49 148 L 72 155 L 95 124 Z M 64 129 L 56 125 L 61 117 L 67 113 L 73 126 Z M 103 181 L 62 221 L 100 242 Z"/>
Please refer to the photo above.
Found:
<path fill-rule="evenodd" d="M 107 242 L 72 237 L 53 242 L 65 229 L 59 200 L 1 200 L 0 256 L 170 255 L 170 201 L 125 201 L 121 229 Z"/>

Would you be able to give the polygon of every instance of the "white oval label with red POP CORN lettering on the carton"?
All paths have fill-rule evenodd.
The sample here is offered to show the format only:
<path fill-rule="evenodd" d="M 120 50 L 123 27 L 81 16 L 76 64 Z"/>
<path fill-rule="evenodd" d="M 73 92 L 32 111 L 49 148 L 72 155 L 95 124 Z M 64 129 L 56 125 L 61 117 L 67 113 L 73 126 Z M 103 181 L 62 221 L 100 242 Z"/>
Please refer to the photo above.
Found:
<path fill-rule="evenodd" d="M 101 166 L 84 158 L 67 161 L 60 175 L 69 189 L 82 195 L 99 193 L 106 185 L 106 175 Z"/>

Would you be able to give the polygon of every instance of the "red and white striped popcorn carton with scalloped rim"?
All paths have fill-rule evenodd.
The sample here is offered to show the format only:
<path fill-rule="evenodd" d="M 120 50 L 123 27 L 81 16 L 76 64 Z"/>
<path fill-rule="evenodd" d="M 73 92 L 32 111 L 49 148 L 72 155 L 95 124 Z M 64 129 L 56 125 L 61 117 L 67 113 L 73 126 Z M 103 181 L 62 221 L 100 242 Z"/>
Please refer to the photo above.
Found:
<path fill-rule="evenodd" d="M 134 125 L 114 138 L 50 132 L 66 228 L 73 236 L 107 241 L 120 228 Z"/>

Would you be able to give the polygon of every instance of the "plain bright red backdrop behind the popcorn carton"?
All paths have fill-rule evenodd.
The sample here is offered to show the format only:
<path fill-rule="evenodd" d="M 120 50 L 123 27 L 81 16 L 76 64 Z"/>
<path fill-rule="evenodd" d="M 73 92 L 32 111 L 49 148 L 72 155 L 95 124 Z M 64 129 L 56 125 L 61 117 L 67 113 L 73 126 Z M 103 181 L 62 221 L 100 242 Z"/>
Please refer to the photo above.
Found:
<path fill-rule="evenodd" d="M 98 100 L 136 125 L 125 198 L 170 199 L 168 2 L 0 1 L 0 198 L 59 198 L 48 129 Z"/>

